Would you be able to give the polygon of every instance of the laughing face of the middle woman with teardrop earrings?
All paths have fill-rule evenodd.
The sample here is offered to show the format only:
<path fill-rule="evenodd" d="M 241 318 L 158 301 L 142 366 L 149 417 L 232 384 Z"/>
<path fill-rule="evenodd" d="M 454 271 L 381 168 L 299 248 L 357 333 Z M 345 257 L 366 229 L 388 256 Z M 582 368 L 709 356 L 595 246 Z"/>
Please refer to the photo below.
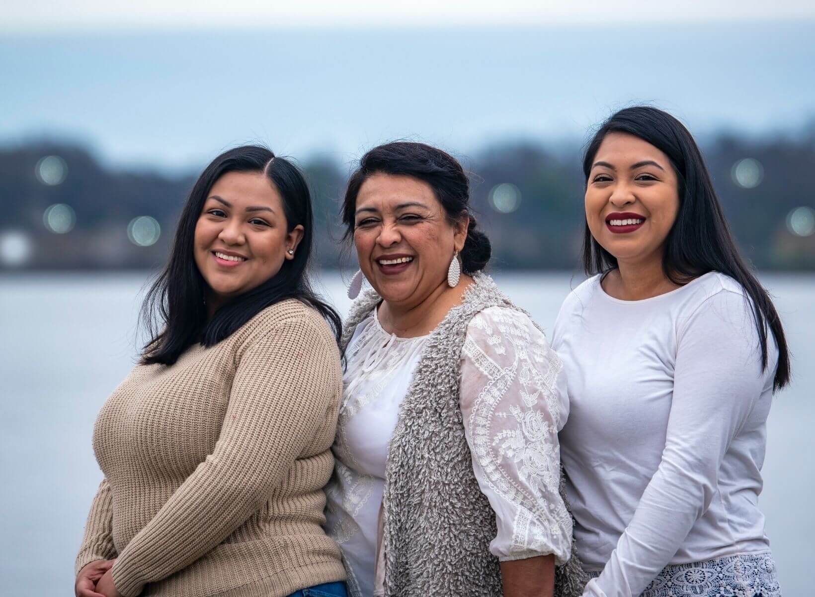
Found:
<path fill-rule="evenodd" d="M 354 245 L 359 268 L 389 303 L 411 307 L 447 280 L 467 223 L 450 223 L 433 188 L 410 176 L 375 174 L 359 188 Z"/>

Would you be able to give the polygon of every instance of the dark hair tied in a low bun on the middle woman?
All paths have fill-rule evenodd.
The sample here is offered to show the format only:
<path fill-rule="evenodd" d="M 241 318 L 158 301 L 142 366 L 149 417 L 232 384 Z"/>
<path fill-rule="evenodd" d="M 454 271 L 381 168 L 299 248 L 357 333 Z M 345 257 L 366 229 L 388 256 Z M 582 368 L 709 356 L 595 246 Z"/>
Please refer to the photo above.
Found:
<path fill-rule="evenodd" d="M 348 179 L 346 197 L 342 201 L 342 223 L 346 225 L 346 241 L 354 234 L 354 214 L 359 188 L 377 173 L 410 176 L 430 185 L 442 204 L 447 221 L 455 223 L 469 218 L 467 238 L 461 249 L 461 267 L 466 273 L 480 272 L 491 255 L 490 239 L 477 230 L 478 223 L 469 209 L 469 179 L 455 157 L 441 149 L 423 143 L 394 141 L 379 145 L 366 153 Z"/>

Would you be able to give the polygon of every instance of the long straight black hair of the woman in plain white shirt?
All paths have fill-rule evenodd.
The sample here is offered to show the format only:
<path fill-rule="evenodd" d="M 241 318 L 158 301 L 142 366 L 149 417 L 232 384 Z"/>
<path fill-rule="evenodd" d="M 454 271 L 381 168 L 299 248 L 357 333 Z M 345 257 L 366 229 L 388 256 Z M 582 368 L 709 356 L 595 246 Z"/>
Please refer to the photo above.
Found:
<path fill-rule="evenodd" d="M 679 211 L 668 232 L 663 254 L 663 272 L 676 285 L 684 285 L 707 272 L 721 272 L 742 285 L 751 303 L 753 320 L 761 345 L 761 364 L 767 368 L 767 331 L 778 344 L 778 369 L 773 388 L 790 381 L 790 355 L 781 319 L 773 301 L 738 252 L 711 176 L 693 136 L 670 114 L 650 106 L 624 108 L 604 122 L 589 142 L 583 158 L 588 185 L 594 157 L 609 133 L 627 133 L 653 145 L 671 161 L 679 184 Z M 617 259 L 584 230 L 583 266 L 589 276 L 617 267 Z"/>

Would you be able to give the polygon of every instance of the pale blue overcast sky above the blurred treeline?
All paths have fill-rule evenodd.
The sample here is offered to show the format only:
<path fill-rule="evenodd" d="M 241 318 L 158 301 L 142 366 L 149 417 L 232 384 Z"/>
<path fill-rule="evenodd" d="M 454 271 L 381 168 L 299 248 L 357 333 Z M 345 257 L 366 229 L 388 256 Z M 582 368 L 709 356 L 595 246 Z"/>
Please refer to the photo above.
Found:
<path fill-rule="evenodd" d="M 815 2 L 350 0 L 343 26 L 337 2 L 275 4 L 7 2 L 0 145 L 181 170 L 246 142 L 353 161 L 405 137 L 579 141 L 634 103 L 697 135 L 815 126 Z"/>

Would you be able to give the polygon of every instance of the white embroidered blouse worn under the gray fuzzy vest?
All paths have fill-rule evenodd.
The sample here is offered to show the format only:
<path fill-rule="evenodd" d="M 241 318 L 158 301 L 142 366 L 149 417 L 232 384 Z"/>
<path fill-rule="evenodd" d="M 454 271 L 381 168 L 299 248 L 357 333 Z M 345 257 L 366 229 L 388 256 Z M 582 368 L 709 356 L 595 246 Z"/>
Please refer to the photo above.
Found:
<path fill-rule="evenodd" d="M 372 312 L 346 350 L 327 530 L 363 595 L 375 589 L 388 443 L 428 338 L 389 334 Z M 501 561 L 553 554 L 562 564 L 571 517 L 557 491 L 557 431 L 569 410 L 561 360 L 528 316 L 507 307 L 470 321 L 461 360 L 465 436 L 478 486 L 496 512 L 490 551 Z"/>

